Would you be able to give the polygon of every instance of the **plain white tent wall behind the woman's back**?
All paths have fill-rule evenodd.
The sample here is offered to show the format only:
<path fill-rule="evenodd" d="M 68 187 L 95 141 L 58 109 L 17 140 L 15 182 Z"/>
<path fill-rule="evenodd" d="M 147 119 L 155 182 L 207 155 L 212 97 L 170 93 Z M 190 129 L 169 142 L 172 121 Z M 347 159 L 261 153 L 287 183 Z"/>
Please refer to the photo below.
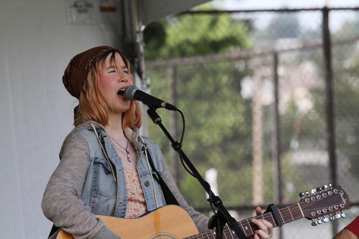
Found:
<path fill-rule="evenodd" d="M 119 47 L 119 32 L 68 24 L 64 0 L 0 1 L 1 238 L 47 238 L 41 199 L 77 105 L 62 75 L 77 53 Z"/>

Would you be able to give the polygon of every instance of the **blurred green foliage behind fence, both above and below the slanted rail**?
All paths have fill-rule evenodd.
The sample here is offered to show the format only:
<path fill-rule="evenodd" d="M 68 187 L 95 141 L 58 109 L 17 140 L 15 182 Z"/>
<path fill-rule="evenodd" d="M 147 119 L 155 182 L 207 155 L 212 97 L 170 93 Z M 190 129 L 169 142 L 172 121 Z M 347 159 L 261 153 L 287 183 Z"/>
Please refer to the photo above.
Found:
<path fill-rule="evenodd" d="M 208 5 L 201 8 L 208 8 Z M 229 14 L 179 15 L 158 21 L 144 32 L 146 60 L 197 56 L 251 46 L 250 26 Z M 238 67 L 237 65 L 244 67 Z M 169 100 L 165 68 L 148 69 L 152 93 Z M 246 61 L 213 62 L 176 68 L 177 107 L 186 118 L 183 150 L 204 176 L 206 169 L 218 169 L 220 195 L 232 205 L 248 203 L 251 187 L 251 101 L 242 98 L 241 79 L 251 74 Z M 235 96 L 235 97 L 233 97 Z M 167 111 L 158 110 L 168 126 Z M 181 119 L 178 120 L 181 122 Z M 179 125 L 179 131 L 182 130 Z M 158 126 L 149 125 L 150 137 L 165 158 L 170 145 Z M 233 176 L 235 181 L 224 178 Z M 205 206 L 205 192 L 182 169 L 180 190 L 193 206 Z M 248 191 L 249 194 L 243 193 Z M 248 196 L 249 195 L 249 196 Z"/>

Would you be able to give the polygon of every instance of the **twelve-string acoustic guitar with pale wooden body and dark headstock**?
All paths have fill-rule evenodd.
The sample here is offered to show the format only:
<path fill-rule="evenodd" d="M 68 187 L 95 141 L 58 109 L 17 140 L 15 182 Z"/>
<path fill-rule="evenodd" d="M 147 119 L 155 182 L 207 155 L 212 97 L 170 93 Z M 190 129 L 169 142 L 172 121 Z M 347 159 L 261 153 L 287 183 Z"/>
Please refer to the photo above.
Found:
<path fill-rule="evenodd" d="M 284 225 L 300 218 L 312 220 L 312 225 L 326 223 L 330 220 L 345 217 L 344 210 L 350 208 L 348 195 L 340 186 L 335 188 L 320 187 L 300 193 L 302 199 L 297 204 L 284 207 L 275 212 L 266 212 L 257 215 L 256 219 L 265 219 L 272 223 L 273 228 L 278 224 Z M 279 218 L 279 222 L 276 220 Z M 191 216 L 181 207 L 167 205 L 160 207 L 149 214 L 134 219 L 116 218 L 112 216 L 96 215 L 104 224 L 121 239 L 216 239 L 215 230 L 205 233 L 198 232 Z M 252 217 L 253 218 L 253 217 Z M 238 221 L 239 227 L 246 236 L 252 236 L 258 230 L 257 225 L 251 219 Z M 317 219 L 317 220 L 314 220 Z M 279 225 L 280 226 L 280 225 Z M 73 236 L 60 229 L 50 237 L 51 239 L 73 239 Z M 232 229 L 224 227 L 223 238 L 238 238 Z"/>

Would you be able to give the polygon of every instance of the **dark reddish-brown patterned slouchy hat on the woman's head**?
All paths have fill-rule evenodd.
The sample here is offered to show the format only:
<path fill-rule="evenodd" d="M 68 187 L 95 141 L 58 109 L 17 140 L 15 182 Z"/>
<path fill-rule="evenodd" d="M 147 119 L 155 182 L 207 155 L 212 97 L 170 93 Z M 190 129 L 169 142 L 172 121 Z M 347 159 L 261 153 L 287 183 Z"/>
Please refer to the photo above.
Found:
<path fill-rule="evenodd" d="M 97 59 L 101 57 L 101 55 L 109 50 L 116 50 L 113 47 L 101 46 L 94 47 L 85 52 L 77 54 L 74 56 L 69 65 L 66 67 L 64 72 L 64 76 L 62 76 L 62 82 L 67 91 L 77 99 L 80 97 L 81 87 L 86 80 L 87 74 L 90 71 L 90 68 L 94 66 L 97 62 Z"/>

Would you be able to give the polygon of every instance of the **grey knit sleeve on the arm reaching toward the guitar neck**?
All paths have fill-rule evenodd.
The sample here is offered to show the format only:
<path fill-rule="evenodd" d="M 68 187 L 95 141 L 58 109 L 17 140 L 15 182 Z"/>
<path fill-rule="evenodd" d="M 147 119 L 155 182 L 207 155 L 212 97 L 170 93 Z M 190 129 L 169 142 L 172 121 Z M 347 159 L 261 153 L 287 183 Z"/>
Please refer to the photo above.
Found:
<path fill-rule="evenodd" d="M 185 209 L 188 214 L 192 217 L 193 221 L 195 222 L 197 229 L 200 233 L 204 233 L 208 231 L 208 221 L 209 218 L 199 212 L 195 211 L 193 207 L 187 204 L 186 200 L 183 198 L 181 192 L 178 190 L 176 183 L 173 180 L 172 174 L 168 169 L 167 163 L 161 153 L 161 164 L 163 169 L 163 181 L 168 186 L 169 190 L 171 190 L 173 196 L 176 198 L 177 202 L 180 206 Z"/>

